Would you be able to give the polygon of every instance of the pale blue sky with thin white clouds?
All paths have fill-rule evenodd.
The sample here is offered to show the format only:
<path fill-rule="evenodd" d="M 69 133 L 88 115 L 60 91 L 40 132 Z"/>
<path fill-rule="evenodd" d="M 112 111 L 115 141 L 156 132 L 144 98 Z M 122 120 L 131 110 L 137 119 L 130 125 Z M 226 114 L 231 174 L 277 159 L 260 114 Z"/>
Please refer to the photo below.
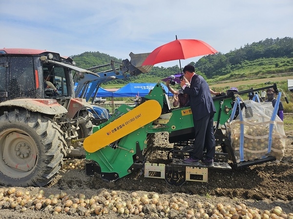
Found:
<path fill-rule="evenodd" d="M 178 39 L 226 54 L 266 38 L 293 37 L 293 0 L 0 0 L 0 49 L 122 59 Z M 181 60 L 184 67 L 200 57 Z M 179 66 L 179 61 L 156 64 Z"/>

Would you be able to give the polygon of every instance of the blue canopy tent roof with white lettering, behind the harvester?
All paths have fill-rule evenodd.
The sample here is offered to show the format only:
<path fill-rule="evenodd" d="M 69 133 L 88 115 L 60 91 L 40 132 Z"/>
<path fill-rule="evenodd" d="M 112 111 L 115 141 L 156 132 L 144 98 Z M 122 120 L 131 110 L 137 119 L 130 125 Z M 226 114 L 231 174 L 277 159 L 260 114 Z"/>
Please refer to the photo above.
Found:
<path fill-rule="evenodd" d="M 115 91 L 113 97 L 145 96 L 155 86 L 156 86 L 156 83 L 129 83 L 123 88 L 120 88 L 118 91 Z M 164 90 L 169 96 L 173 96 L 171 92 L 168 92 L 168 88 L 166 85 L 161 84 L 161 86 L 163 86 Z M 97 95 L 99 95 L 99 91 Z"/>

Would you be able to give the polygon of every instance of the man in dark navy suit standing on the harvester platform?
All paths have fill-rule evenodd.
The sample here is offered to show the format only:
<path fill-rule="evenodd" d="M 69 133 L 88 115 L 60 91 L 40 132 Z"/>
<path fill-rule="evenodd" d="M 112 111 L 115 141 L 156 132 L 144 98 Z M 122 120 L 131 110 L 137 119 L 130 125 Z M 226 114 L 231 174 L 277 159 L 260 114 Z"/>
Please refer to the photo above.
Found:
<path fill-rule="evenodd" d="M 215 155 L 215 137 L 213 134 L 213 118 L 216 109 L 210 95 L 209 85 L 206 80 L 195 73 L 192 65 L 183 69 L 184 79 L 180 86 L 184 93 L 189 94 L 187 106 L 190 106 L 194 123 L 193 151 L 184 163 L 199 164 L 202 160 L 206 165 L 213 165 Z M 207 149 L 206 157 L 203 151 Z"/>

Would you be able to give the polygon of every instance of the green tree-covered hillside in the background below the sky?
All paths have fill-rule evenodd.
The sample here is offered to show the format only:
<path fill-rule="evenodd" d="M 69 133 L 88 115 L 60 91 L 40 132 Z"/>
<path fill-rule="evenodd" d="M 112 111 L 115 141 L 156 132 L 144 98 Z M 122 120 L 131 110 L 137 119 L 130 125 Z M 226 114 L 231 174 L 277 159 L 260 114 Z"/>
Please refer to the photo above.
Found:
<path fill-rule="evenodd" d="M 113 56 L 99 52 L 85 52 L 72 56 L 77 66 L 90 68 L 93 66 L 110 63 L 111 60 L 121 61 Z M 271 77 L 293 77 L 293 38 L 267 38 L 259 42 L 246 44 L 239 49 L 231 50 L 227 54 L 217 53 L 206 55 L 196 63 L 191 62 L 196 68 L 196 73 L 201 74 L 211 86 L 217 85 L 225 90 L 230 83 L 245 81 L 245 85 L 258 83 L 257 79 L 263 78 L 264 82 L 280 81 Z M 100 71 L 109 70 L 109 66 Z M 121 88 L 127 83 L 156 83 L 161 79 L 180 72 L 178 65 L 173 67 L 153 67 L 149 73 L 132 76 L 123 80 L 113 80 L 103 84 L 104 88 Z M 253 81 L 247 81 L 248 79 Z M 283 79 L 282 81 L 287 80 Z M 224 85 L 225 83 L 229 83 Z M 237 83 L 235 83 L 238 85 Z M 240 83 L 242 85 L 242 83 Z M 283 86 L 282 89 L 286 87 Z"/>

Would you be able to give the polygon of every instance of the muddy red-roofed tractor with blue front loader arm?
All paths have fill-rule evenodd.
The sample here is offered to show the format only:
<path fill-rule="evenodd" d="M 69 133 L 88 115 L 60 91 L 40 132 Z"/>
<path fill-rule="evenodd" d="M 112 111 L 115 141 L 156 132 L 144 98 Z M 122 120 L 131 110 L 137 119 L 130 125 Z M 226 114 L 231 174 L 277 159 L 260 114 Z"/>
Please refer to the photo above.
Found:
<path fill-rule="evenodd" d="M 66 155 L 84 154 L 82 142 L 96 120 L 91 105 L 75 98 L 72 71 L 84 87 L 91 80 L 112 80 L 112 74 L 118 79 L 142 73 L 128 69 L 99 74 L 58 53 L 0 49 L 0 184 L 43 186 Z"/>

